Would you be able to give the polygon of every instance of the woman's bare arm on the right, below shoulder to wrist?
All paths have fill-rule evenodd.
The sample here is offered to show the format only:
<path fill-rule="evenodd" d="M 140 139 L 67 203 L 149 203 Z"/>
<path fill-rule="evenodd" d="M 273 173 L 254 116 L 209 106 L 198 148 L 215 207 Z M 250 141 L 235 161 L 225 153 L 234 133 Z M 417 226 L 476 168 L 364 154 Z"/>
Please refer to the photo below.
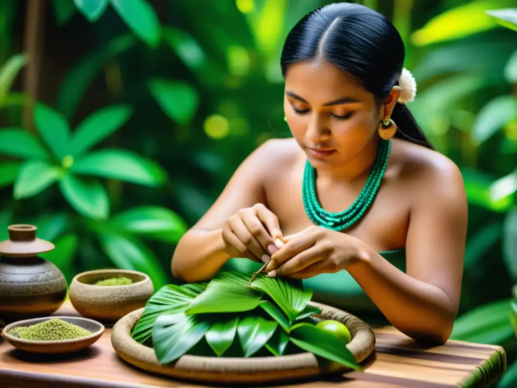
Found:
<path fill-rule="evenodd" d="M 391 324 L 406 335 L 437 344 L 458 314 L 467 229 L 467 200 L 459 169 L 422 175 L 410 213 L 406 273 L 374 250 L 347 268 Z"/>

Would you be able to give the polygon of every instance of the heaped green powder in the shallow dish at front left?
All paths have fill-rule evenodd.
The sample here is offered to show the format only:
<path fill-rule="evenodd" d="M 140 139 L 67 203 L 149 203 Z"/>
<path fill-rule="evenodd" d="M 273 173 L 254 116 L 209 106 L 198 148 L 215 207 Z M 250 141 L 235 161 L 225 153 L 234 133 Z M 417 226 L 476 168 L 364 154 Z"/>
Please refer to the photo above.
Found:
<path fill-rule="evenodd" d="M 14 327 L 9 334 L 33 341 L 57 341 L 86 337 L 92 334 L 86 329 L 54 318 L 27 327 Z"/>

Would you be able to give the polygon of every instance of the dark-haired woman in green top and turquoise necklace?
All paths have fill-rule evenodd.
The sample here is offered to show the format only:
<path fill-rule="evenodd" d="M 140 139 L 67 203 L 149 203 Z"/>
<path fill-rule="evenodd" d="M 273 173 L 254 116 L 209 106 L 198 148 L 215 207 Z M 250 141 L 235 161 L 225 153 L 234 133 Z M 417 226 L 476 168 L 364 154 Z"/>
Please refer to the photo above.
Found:
<path fill-rule="evenodd" d="M 405 106 L 416 84 L 403 63 L 397 29 L 367 7 L 331 4 L 298 22 L 281 56 L 293 139 L 242 162 L 181 238 L 173 274 L 197 282 L 269 262 L 270 276 L 305 279 L 314 300 L 445 342 L 467 201 L 459 169 Z"/>

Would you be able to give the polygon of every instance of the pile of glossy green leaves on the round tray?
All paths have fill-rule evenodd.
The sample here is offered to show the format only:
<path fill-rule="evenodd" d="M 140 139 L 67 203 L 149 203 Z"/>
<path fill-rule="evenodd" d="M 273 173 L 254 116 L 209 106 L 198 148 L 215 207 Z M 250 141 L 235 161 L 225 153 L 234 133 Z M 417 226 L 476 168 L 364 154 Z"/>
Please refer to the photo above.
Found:
<path fill-rule="evenodd" d="M 131 336 L 162 364 L 184 354 L 251 357 L 312 352 L 361 370 L 346 341 L 317 327 L 301 281 L 222 272 L 210 282 L 168 285 L 147 302 Z"/>

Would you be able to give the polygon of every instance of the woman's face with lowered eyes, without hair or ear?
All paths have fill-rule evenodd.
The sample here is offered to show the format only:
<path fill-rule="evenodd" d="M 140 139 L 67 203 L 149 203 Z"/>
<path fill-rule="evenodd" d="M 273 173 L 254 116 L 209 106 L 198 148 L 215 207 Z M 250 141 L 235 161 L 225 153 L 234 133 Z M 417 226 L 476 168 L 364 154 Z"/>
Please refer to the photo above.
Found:
<path fill-rule="evenodd" d="M 347 73 L 318 61 L 290 66 L 284 112 L 309 162 L 316 168 L 333 169 L 371 144 L 384 110 Z"/>

